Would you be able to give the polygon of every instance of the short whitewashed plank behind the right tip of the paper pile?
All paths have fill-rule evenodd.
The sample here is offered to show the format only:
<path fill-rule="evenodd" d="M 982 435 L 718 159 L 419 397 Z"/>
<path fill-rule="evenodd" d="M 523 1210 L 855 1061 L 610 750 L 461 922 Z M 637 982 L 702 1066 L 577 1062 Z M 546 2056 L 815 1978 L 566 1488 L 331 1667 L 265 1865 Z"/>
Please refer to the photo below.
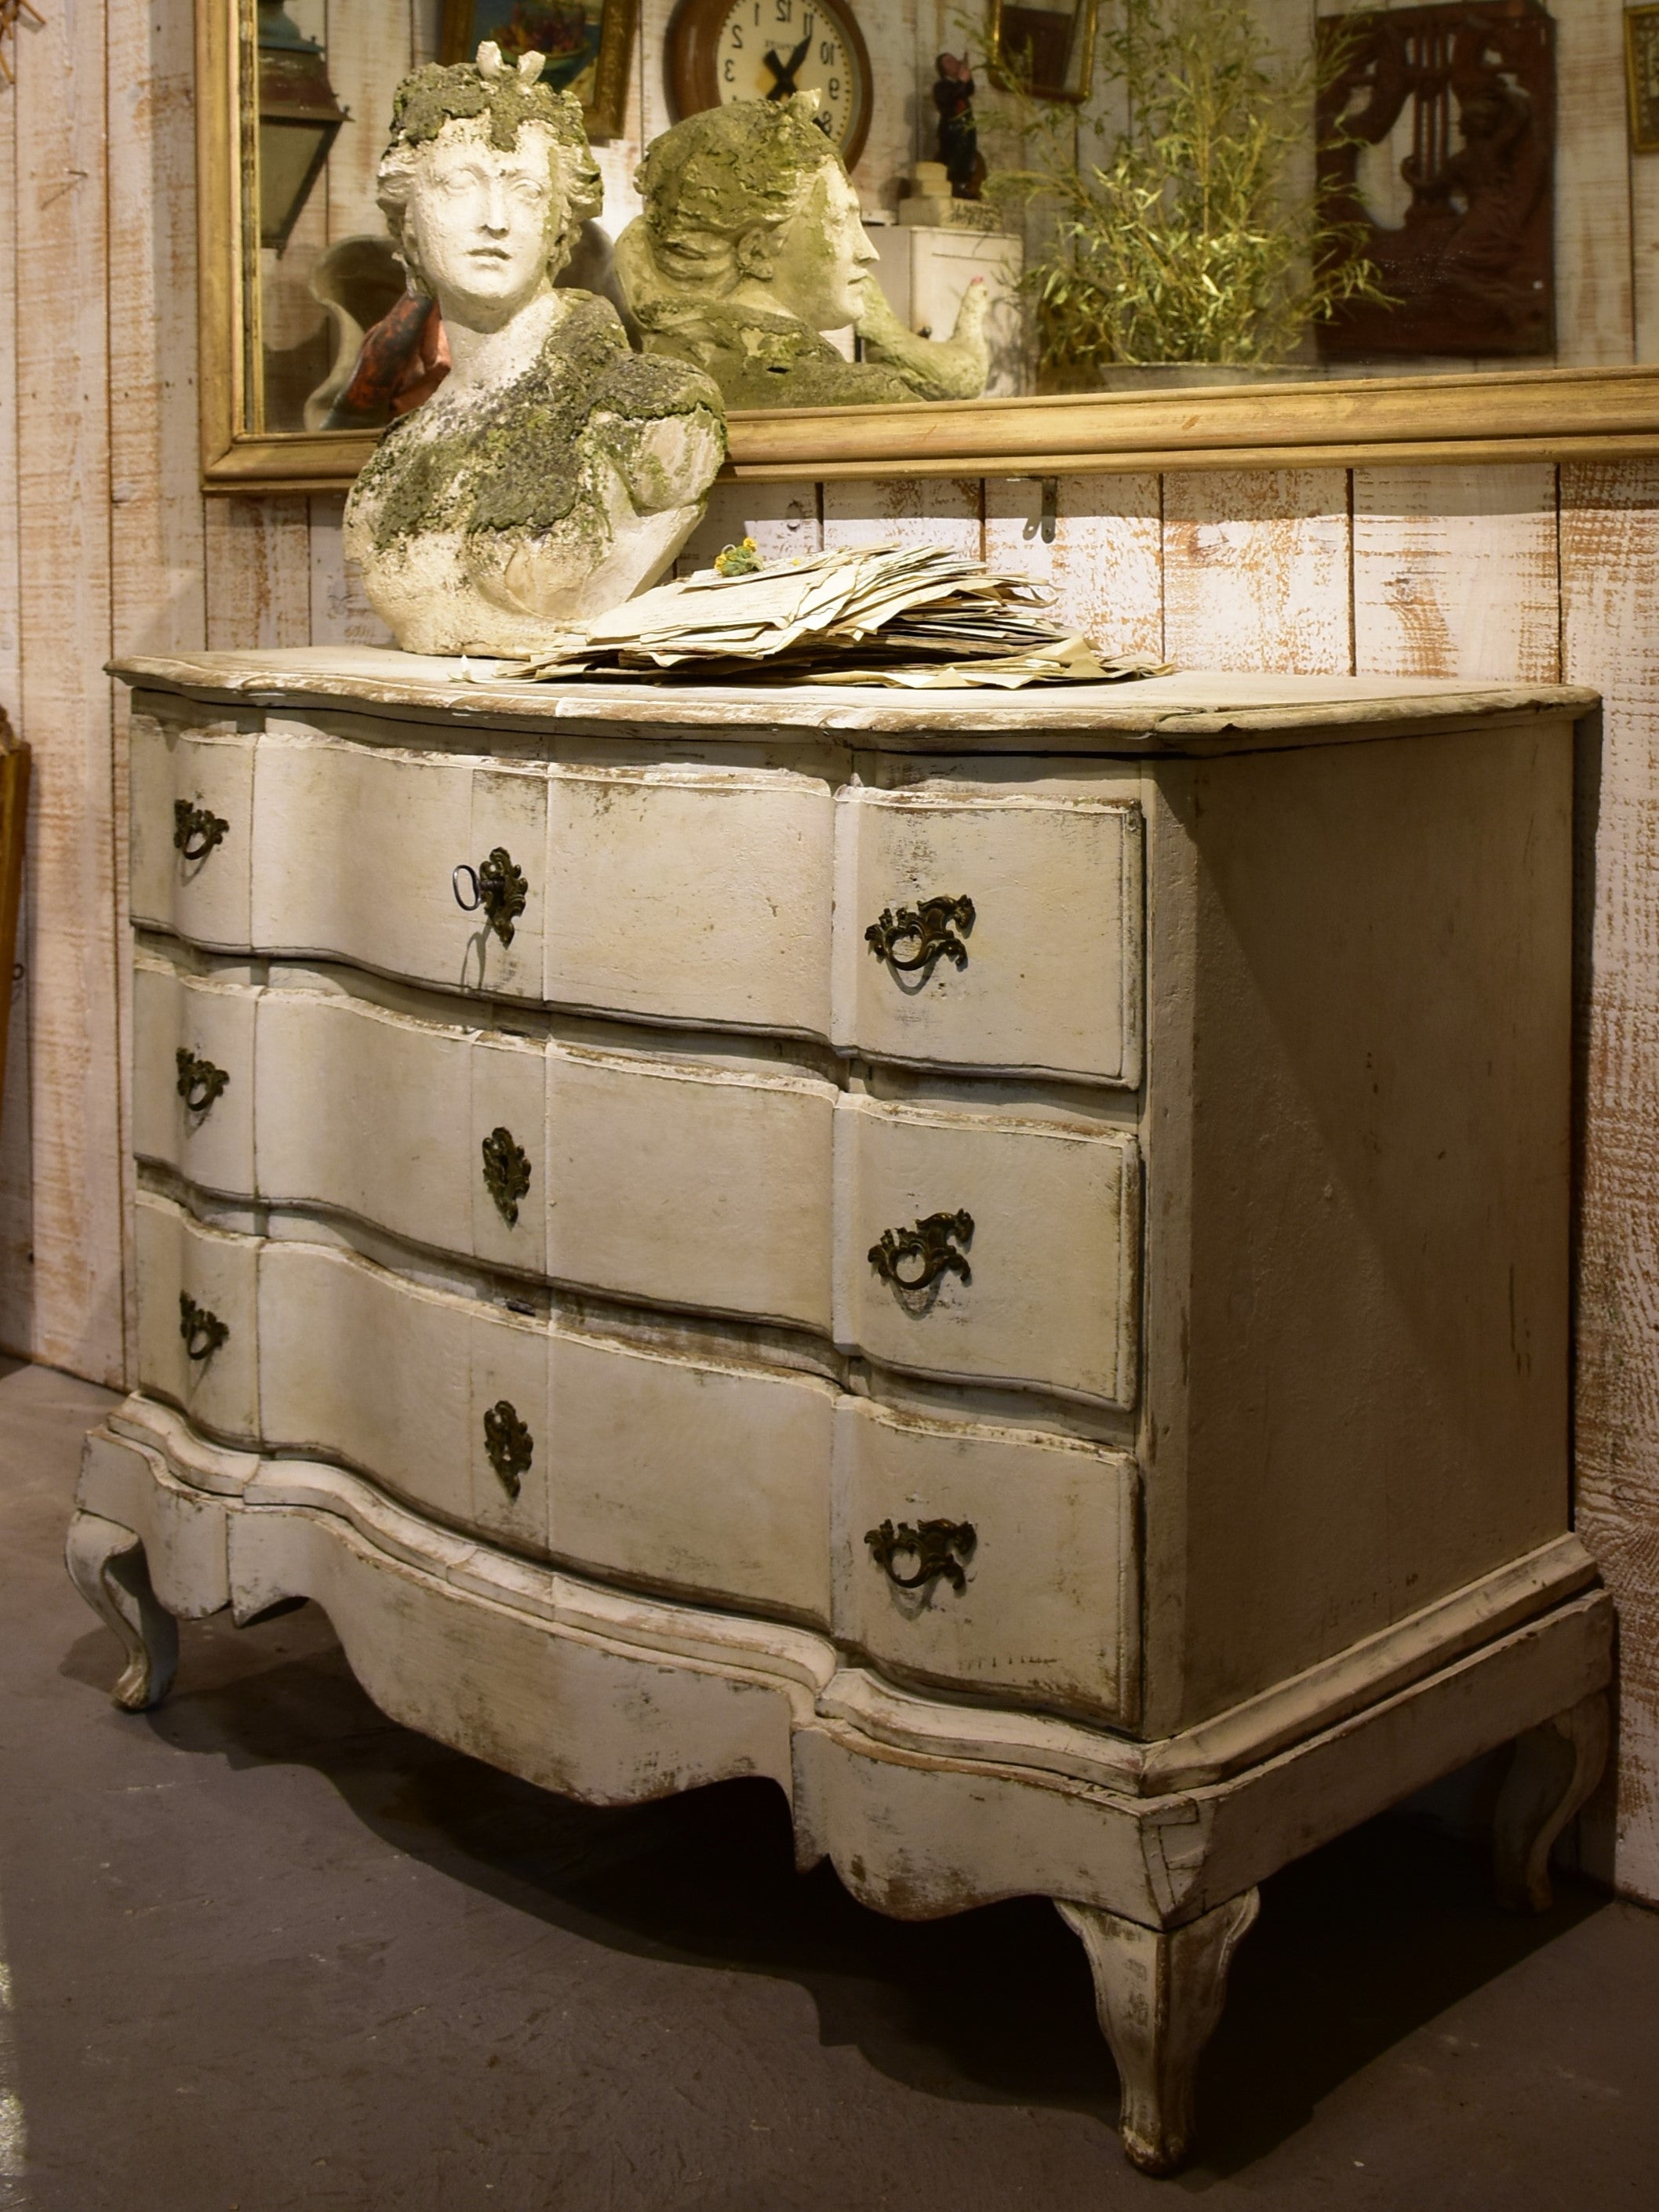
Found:
<path fill-rule="evenodd" d="M 1044 515 L 1044 493 L 1053 513 Z M 1164 487 L 1157 476 L 1031 476 L 984 484 L 984 557 L 1055 593 L 1053 619 L 1102 653 L 1164 655 Z"/>

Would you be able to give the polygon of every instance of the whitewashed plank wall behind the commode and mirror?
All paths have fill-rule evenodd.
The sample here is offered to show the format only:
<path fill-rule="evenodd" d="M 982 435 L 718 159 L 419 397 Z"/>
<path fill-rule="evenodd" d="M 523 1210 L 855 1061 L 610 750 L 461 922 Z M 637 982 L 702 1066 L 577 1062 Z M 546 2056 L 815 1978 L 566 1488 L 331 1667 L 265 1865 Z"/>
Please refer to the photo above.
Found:
<path fill-rule="evenodd" d="M 646 0 L 648 29 L 664 15 Z M 931 55 L 925 11 L 894 18 L 891 66 L 905 44 Z M 411 20 L 427 46 L 431 0 Z M 650 42 L 635 113 L 661 122 Z M 880 190 L 902 150 L 874 159 Z M 630 166 L 630 146 L 606 155 L 617 190 Z M 126 1374 L 131 1239 L 124 723 L 102 664 L 380 635 L 343 568 L 338 500 L 197 493 L 192 177 L 179 0 L 64 0 L 24 24 L 15 93 L 0 93 L 0 699 L 35 748 L 35 814 L 0 1345 L 104 1383 Z M 1579 1509 L 1621 1606 L 1624 1710 L 1593 1858 L 1659 1902 L 1659 465 L 1075 478 L 1053 542 L 1026 482 L 770 484 L 721 493 L 701 544 L 745 529 L 768 553 L 865 529 L 949 535 L 1051 577 L 1102 644 L 1190 666 L 1562 675 L 1606 695 L 1586 852 Z"/>

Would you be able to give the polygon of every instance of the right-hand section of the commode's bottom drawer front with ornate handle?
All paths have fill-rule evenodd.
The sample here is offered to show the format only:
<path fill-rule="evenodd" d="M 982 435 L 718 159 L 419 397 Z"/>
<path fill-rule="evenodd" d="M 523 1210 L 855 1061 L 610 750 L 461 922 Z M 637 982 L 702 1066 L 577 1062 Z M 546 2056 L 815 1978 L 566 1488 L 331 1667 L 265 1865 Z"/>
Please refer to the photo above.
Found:
<path fill-rule="evenodd" d="M 834 1630 L 898 1679 L 1133 1721 L 1135 1462 L 845 1398 Z"/>

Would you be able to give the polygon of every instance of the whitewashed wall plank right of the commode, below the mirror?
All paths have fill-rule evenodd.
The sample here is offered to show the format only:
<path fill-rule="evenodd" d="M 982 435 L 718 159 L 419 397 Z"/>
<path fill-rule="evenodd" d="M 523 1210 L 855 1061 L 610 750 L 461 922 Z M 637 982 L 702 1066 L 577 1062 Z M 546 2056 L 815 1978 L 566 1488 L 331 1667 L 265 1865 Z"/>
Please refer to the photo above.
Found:
<path fill-rule="evenodd" d="M 1562 577 L 1566 677 L 1606 699 L 1577 1321 L 1579 1526 L 1619 1601 L 1597 1871 L 1659 1902 L 1659 467 L 1562 471 Z"/>

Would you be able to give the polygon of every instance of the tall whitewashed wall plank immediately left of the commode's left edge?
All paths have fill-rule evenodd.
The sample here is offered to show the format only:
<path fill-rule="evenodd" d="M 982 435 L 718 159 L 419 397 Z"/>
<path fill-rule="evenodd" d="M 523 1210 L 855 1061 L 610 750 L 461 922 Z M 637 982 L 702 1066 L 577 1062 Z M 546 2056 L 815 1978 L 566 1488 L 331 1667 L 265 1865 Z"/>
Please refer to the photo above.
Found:
<path fill-rule="evenodd" d="M 20 728 L 29 869 L 29 1349 L 115 1383 L 122 1352 L 115 765 L 108 580 L 106 11 L 15 44 Z"/>

